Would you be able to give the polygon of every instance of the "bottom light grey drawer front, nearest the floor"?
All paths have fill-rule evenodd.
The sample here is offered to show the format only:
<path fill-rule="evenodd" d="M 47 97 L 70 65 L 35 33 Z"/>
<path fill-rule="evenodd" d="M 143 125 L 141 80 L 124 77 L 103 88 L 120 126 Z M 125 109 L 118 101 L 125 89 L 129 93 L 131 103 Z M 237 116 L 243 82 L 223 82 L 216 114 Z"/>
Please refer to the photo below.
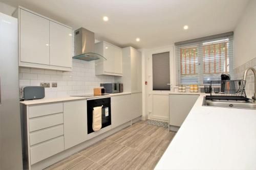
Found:
<path fill-rule="evenodd" d="M 64 151 L 64 137 L 60 136 L 30 147 L 31 165 Z"/>

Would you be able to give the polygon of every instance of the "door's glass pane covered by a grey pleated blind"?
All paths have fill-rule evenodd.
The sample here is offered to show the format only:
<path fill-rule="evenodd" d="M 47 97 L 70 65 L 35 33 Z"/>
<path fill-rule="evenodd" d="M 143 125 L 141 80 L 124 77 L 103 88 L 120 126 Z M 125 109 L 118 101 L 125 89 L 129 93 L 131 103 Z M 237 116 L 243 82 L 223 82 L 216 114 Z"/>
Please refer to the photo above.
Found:
<path fill-rule="evenodd" d="M 169 52 L 152 55 L 153 90 L 170 90 Z"/>

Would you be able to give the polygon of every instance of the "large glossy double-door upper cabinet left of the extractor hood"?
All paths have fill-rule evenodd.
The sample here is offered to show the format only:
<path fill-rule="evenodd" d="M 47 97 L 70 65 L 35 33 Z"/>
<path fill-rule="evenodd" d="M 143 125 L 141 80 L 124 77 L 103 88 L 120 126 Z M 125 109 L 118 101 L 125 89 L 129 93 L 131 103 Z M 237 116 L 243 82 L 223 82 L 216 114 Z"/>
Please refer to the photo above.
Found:
<path fill-rule="evenodd" d="M 19 66 L 72 70 L 72 28 L 19 7 Z"/>

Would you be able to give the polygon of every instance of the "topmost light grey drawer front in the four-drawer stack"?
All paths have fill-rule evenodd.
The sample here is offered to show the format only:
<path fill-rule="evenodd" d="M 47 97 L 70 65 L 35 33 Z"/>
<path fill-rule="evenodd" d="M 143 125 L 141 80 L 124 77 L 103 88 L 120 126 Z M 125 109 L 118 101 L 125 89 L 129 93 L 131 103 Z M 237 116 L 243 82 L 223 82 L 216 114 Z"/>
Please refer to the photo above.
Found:
<path fill-rule="evenodd" d="M 29 118 L 63 112 L 63 103 L 29 106 Z"/>

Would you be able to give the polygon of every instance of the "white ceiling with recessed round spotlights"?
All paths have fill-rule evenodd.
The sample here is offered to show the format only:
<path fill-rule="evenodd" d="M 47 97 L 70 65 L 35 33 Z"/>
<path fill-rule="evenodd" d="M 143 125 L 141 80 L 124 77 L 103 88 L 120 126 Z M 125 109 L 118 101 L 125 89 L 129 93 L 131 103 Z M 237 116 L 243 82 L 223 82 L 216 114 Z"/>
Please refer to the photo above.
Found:
<path fill-rule="evenodd" d="M 233 31 L 247 0 L 0 0 L 120 47 L 152 48 Z M 108 16 L 104 22 L 102 16 Z M 188 30 L 183 26 L 188 25 Z M 136 38 L 140 42 L 136 42 Z"/>

